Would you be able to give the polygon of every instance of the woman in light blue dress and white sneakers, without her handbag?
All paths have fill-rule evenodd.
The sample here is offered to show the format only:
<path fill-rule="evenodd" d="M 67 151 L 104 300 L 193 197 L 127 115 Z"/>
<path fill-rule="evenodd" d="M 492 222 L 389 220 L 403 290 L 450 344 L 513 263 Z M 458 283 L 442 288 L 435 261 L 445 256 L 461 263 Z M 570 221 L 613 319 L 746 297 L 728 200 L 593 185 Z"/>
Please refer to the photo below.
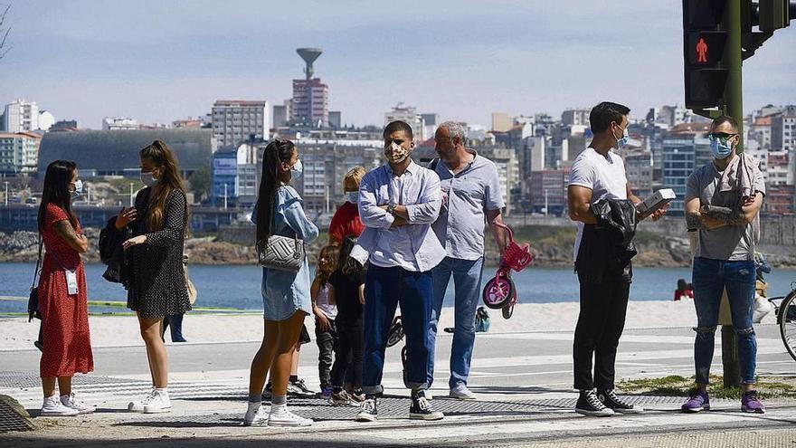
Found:
<path fill-rule="evenodd" d="M 301 196 L 290 181 L 301 175 L 299 150 L 293 142 L 275 139 L 265 148 L 262 180 L 252 220 L 257 241 L 271 235 L 297 237 L 305 243 L 317 238 L 317 227 L 304 214 Z M 299 272 L 262 268 L 262 307 L 265 327 L 260 349 L 251 361 L 249 408 L 243 424 L 308 426 L 312 420 L 288 410 L 287 393 L 293 351 L 304 318 L 312 313 L 307 259 Z M 270 372 L 273 383 L 270 414 L 262 408 L 262 389 Z"/>

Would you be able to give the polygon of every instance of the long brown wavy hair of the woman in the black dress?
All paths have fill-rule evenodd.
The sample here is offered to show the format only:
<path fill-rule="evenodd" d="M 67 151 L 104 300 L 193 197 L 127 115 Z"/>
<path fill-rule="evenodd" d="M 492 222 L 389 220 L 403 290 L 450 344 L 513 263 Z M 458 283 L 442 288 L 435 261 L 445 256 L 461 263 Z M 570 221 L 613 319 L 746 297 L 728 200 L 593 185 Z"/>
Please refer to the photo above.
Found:
<path fill-rule="evenodd" d="M 159 192 L 155 199 L 155 205 L 147 210 L 147 225 L 149 231 L 156 231 L 163 228 L 163 214 L 166 210 L 166 199 L 174 190 L 180 190 L 185 195 L 185 185 L 180 176 L 180 167 L 174 153 L 166 147 L 162 140 L 155 140 L 151 145 L 141 149 L 139 157 L 146 158 L 156 167 L 164 167 L 163 175 L 157 179 Z M 154 189 L 152 191 L 155 191 Z M 188 213 L 185 212 L 183 226 L 187 229 Z"/>

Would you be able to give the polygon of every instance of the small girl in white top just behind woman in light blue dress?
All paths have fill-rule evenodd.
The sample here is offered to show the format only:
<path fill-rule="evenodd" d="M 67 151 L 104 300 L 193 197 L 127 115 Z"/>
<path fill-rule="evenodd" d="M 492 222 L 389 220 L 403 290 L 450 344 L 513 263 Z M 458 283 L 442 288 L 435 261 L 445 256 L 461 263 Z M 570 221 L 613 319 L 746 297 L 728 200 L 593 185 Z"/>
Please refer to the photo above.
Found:
<path fill-rule="evenodd" d="M 332 396 L 331 368 L 332 355 L 337 345 L 335 317 L 337 307 L 330 300 L 329 277 L 337 267 L 337 247 L 326 246 L 317 256 L 315 280 L 309 288 L 312 299 L 312 312 L 315 314 L 315 340 L 317 342 L 317 372 L 320 378 L 320 391 L 324 399 Z"/>

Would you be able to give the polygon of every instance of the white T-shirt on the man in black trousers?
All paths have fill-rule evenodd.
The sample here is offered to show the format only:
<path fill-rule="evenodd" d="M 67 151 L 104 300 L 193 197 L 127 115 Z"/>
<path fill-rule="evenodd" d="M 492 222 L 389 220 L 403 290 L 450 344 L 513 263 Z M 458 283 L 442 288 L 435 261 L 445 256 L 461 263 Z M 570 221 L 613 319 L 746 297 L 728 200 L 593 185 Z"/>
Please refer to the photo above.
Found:
<path fill-rule="evenodd" d="M 592 190 L 592 204 L 602 199 L 627 199 L 628 177 L 625 164 L 613 150 L 602 156 L 594 148 L 586 148 L 575 160 L 569 172 L 570 186 L 583 186 Z M 573 261 L 578 258 L 578 249 L 583 237 L 583 223 L 578 222 L 575 236 Z"/>

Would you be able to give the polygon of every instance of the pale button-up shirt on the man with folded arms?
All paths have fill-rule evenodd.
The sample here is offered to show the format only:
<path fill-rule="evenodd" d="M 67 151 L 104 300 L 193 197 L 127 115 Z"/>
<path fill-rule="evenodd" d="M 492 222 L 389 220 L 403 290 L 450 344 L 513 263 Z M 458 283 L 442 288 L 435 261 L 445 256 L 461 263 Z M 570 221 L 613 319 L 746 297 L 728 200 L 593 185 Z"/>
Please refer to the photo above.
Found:
<path fill-rule="evenodd" d="M 395 218 L 381 206 L 391 204 L 406 206 L 408 224 L 390 227 Z M 395 176 L 389 165 L 368 172 L 359 187 L 359 219 L 365 231 L 351 256 L 383 268 L 431 271 L 445 258 L 445 249 L 431 230 L 441 204 L 440 177 L 428 168 L 412 162 L 401 176 Z"/>

